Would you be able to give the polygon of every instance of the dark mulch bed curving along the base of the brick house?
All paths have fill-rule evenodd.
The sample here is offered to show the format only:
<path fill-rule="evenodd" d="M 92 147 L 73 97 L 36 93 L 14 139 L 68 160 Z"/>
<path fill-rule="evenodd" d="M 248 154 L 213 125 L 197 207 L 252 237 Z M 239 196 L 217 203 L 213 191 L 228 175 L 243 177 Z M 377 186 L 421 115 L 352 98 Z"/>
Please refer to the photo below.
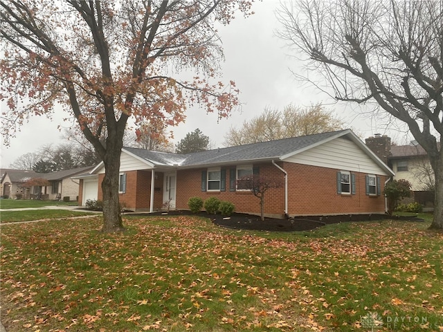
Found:
<path fill-rule="evenodd" d="M 154 212 L 154 215 L 165 214 L 165 212 Z M 186 210 L 173 210 L 168 212 L 169 215 L 195 215 Z M 152 214 L 150 214 L 152 215 Z M 234 213 L 229 217 L 221 216 L 221 214 L 207 214 L 200 212 L 198 216 L 204 216 L 213 221 L 216 225 L 226 228 L 235 228 L 241 230 L 264 230 L 270 232 L 296 232 L 304 230 L 313 230 L 320 226 L 330 223 L 342 223 L 345 221 L 375 221 L 383 219 L 399 219 L 405 221 L 423 221 L 414 216 L 397 216 L 389 217 L 383 214 L 348 214 L 341 216 L 309 216 L 295 219 L 274 219 L 265 218 L 264 221 L 260 216 L 252 214 Z"/>

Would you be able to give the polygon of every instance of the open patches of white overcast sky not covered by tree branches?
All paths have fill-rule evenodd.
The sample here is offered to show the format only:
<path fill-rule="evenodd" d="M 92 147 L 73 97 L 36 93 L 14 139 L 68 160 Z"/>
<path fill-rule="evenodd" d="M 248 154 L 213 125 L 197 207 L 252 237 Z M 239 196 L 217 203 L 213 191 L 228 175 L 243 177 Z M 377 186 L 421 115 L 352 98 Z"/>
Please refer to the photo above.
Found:
<path fill-rule="evenodd" d="M 240 90 L 242 108 L 231 114 L 230 118 L 217 123 L 217 115 L 206 115 L 205 111 L 190 109 L 186 122 L 174 128 L 174 141 L 178 142 L 186 133 L 201 129 L 210 137 L 213 147 L 223 147 L 224 136 L 231 126 L 239 126 L 262 112 L 264 107 L 282 109 L 287 104 L 309 106 L 323 102 L 329 109 L 345 121 L 348 127 L 356 129 L 363 138 L 373 133 L 388 133 L 397 140 L 404 140 L 404 135 L 397 131 L 386 131 L 385 126 L 377 123 L 368 114 L 361 115 L 359 107 L 333 104 L 325 93 L 312 86 L 302 85 L 294 79 L 291 71 L 300 71 L 301 64 L 291 58 L 291 50 L 284 42 L 275 37 L 278 21 L 275 18 L 277 0 L 264 0 L 253 5 L 254 15 L 245 19 L 238 17 L 229 26 L 219 28 L 226 61 L 222 64 L 223 80 L 234 80 Z M 1 107 L 5 107 L 4 104 Z M 62 142 L 62 133 L 57 129 L 69 127 L 63 123 L 66 113 L 59 114 L 53 121 L 46 118 L 31 118 L 21 128 L 16 138 L 12 138 L 10 147 L 2 143 L 0 166 L 8 167 L 19 156 L 35 152 L 43 145 Z"/>

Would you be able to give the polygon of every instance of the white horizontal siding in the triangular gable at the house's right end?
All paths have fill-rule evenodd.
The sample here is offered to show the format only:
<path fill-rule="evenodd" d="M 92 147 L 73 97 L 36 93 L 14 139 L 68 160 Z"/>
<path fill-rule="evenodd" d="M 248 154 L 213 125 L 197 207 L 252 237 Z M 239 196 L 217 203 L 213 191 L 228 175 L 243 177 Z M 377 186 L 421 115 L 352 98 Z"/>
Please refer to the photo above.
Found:
<path fill-rule="evenodd" d="M 390 175 L 351 140 L 336 138 L 284 159 L 289 163 L 343 169 L 352 172 Z"/>

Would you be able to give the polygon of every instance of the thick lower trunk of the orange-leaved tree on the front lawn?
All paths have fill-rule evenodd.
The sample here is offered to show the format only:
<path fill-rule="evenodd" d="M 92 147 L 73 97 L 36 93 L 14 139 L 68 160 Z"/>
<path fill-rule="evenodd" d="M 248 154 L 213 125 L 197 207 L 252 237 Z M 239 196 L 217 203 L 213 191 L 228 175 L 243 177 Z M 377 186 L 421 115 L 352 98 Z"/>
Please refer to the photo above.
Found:
<path fill-rule="evenodd" d="M 105 178 L 102 182 L 103 192 L 103 232 L 123 232 L 120 202 L 118 200 L 118 180 L 120 176 L 120 146 L 107 146 Z"/>

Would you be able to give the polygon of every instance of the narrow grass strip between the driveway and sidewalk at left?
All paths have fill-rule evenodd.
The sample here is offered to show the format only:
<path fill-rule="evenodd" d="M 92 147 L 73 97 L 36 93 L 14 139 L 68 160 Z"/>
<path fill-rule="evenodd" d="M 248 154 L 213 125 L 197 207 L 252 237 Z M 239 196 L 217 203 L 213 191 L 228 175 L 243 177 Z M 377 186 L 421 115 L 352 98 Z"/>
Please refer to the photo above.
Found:
<path fill-rule="evenodd" d="M 71 210 L 24 210 L 24 211 L 1 211 L 1 223 L 16 223 L 18 221 L 33 221 L 40 219 L 60 219 L 73 216 L 89 216 L 91 212 Z"/>

